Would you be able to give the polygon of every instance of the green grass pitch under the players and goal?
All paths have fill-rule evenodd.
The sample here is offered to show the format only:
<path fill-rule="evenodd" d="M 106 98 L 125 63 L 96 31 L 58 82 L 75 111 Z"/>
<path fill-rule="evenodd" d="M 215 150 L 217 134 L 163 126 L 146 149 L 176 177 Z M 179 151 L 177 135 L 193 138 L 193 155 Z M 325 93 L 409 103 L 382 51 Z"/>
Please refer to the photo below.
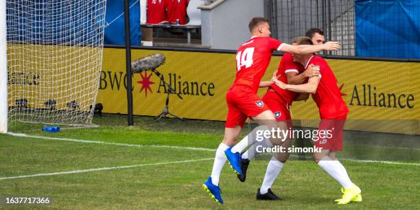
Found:
<path fill-rule="evenodd" d="M 272 187 L 286 200 L 255 200 L 268 162 L 253 161 L 245 183 L 224 167 L 220 187 L 225 204 L 217 205 L 201 185 L 211 173 L 222 122 L 136 117 L 136 125 L 128 127 L 124 116 L 105 115 L 94 123 L 100 127 L 57 133 L 12 123 L 10 132 L 103 143 L 0 135 L 0 197 L 51 197 L 47 206 L 2 204 L 0 209 L 420 209 L 418 149 L 408 150 L 416 153 L 417 160 L 405 161 L 412 165 L 342 161 L 362 189 L 360 203 L 338 207 L 338 183 L 313 161 L 290 160 Z M 71 173 L 49 174 L 55 172 Z M 44 175 L 16 178 L 33 174 Z"/>

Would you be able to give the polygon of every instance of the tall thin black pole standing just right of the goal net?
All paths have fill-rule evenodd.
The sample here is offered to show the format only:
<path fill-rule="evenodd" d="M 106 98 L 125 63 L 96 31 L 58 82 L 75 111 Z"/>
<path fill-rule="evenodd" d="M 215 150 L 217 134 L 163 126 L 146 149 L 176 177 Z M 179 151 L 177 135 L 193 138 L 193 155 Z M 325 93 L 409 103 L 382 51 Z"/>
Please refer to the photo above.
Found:
<path fill-rule="evenodd" d="M 132 119 L 132 73 L 131 73 L 131 41 L 130 41 L 130 5 L 124 0 L 124 23 L 126 27 L 126 71 L 127 71 L 127 117 L 128 126 L 134 124 Z"/>

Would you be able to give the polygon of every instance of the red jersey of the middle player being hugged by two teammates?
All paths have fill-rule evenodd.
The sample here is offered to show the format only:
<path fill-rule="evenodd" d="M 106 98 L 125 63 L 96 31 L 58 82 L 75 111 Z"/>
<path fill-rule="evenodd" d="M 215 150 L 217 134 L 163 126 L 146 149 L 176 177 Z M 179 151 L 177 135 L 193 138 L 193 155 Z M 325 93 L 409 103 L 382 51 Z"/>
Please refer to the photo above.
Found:
<path fill-rule="evenodd" d="M 303 67 L 297 62 L 293 62 L 293 55 L 292 54 L 284 54 L 283 58 L 281 58 L 279 68 L 277 69 L 277 76 L 281 75 L 279 80 L 281 82 L 284 82 L 285 84 L 288 84 L 288 77 L 285 75 L 288 72 L 296 72 L 296 73 L 302 73 Z M 294 97 L 296 97 L 297 93 L 294 91 L 287 91 L 281 89 L 276 84 L 272 84 L 272 89 L 275 89 L 277 93 L 283 98 L 284 102 L 288 104 L 289 106 L 292 104 Z"/>

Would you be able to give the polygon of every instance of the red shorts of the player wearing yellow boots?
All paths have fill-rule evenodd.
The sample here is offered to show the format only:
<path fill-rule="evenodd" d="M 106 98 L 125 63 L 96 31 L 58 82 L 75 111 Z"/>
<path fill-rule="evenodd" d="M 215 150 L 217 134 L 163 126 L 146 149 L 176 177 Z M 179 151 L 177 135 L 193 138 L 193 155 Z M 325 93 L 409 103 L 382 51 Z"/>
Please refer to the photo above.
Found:
<path fill-rule="evenodd" d="M 342 150 L 342 129 L 346 122 L 347 114 L 334 119 L 321 119 L 318 126 L 318 141 L 314 142 L 316 148 L 323 148 L 331 152 Z M 321 135 L 321 130 L 325 132 Z"/>

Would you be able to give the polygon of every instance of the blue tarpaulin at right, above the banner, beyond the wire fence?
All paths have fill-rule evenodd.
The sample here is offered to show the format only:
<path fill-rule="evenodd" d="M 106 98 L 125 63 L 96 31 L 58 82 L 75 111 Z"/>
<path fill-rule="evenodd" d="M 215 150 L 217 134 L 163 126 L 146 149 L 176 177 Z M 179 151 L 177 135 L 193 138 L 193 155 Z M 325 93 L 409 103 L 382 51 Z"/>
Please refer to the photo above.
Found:
<path fill-rule="evenodd" d="M 356 56 L 420 58 L 420 1 L 356 0 Z"/>

